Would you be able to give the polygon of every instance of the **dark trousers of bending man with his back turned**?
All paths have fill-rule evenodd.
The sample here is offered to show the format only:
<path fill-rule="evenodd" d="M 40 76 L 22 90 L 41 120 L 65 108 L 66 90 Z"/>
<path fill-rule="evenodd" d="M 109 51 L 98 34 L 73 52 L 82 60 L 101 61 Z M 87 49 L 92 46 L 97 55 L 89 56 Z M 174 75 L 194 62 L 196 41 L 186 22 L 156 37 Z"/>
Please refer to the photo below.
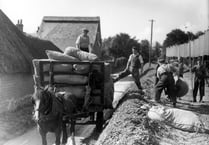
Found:
<path fill-rule="evenodd" d="M 173 103 L 176 103 L 175 81 L 171 73 L 165 73 L 160 76 L 159 81 L 155 85 L 155 100 L 160 101 L 163 89 L 167 90 L 167 94 Z"/>

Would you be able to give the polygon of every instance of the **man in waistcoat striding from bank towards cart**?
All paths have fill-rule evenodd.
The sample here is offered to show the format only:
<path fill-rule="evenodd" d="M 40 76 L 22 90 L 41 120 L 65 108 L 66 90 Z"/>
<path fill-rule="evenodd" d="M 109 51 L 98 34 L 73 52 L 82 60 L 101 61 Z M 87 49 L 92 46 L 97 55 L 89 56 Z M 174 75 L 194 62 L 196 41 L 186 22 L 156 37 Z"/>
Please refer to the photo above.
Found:
<path fill-rule="evenodd" d="M 118 81 L 121 78 L 128 76 L 129 74 L 132 74 L 132 77 L 134 78 L 134 81 L 138 89 L 142 89 L 139 70 L 141 69 L 141 73 L 143 72 L 143 64 L 144 64 L 144 61 L 138 48 L 135 46 L 132 47 L 132 54 L 129 56 L 125 70 L 120 72 L 114 78 L 114 82 Z"/>

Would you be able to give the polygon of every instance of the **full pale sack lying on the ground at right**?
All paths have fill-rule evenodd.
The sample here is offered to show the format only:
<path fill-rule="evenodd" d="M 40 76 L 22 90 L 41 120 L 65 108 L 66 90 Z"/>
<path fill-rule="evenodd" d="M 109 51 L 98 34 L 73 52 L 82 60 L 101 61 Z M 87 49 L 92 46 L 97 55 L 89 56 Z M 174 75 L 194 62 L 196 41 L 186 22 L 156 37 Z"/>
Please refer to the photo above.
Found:
<path fill-rule="evenodd" d="M 206 131 L 200 117 L 192 111 L 169 108 L 161 105 L 144 105 L 142 108 L 149 109 L 147 116 L 151 120 L 164 122 L 165 124 L 172 126 L 176 129 L 200 133 Z"/>

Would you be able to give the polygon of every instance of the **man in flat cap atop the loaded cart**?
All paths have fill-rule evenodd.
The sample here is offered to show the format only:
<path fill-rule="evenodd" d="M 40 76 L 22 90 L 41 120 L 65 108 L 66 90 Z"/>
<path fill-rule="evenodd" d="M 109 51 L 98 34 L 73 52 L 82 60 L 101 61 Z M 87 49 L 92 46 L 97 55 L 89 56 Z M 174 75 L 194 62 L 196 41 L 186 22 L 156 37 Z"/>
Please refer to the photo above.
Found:
<path fill-rule="evenodd" d="M 79 35 L 76 40 L 76 47 L 82 51 L 89 52 L 89 45 L 90 45 L 90 39 L 88 36 L 89 30 L 86 28 L 83 28 L 82 32 L 83 33 Z"/>

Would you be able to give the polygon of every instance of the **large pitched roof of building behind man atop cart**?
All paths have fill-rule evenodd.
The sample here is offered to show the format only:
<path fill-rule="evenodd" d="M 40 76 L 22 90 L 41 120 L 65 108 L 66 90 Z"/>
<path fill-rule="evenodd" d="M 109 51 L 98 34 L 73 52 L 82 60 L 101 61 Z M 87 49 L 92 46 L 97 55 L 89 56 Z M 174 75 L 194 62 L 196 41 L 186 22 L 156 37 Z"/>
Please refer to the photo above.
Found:
<path fill-rule="evenodd" d="M 52 41 L 62 51 L 68 46 L 75 47 L 82 28 L 89 30 L 89 37 L 96 54 L 100 53 L 101 30 L 99 17 L 53 17 L 46 16 L 38 31 L 40 38 Z"/>

